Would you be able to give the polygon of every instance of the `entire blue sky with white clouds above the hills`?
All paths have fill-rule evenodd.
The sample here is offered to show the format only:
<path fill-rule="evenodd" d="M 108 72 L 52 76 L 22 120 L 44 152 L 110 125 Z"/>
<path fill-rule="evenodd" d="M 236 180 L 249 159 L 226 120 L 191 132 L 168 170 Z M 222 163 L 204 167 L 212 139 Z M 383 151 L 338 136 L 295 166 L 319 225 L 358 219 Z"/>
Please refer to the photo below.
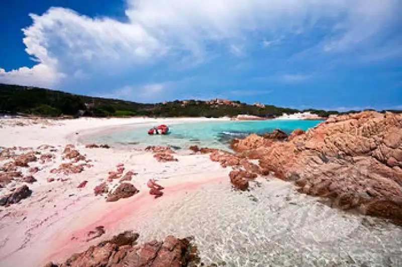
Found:
<path fill-rule="evenodd" d="M 7 1 L 0 82 L 141 102 L 402 109 L 400 10 L 400 0 Z"/>

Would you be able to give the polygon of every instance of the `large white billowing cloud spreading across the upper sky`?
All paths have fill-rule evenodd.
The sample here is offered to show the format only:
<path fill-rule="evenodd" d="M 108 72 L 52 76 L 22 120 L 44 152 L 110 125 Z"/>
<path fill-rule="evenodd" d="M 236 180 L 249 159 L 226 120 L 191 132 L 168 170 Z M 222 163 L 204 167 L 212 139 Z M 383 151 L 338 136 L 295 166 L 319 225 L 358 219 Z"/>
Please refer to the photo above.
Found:
<path fill-rule="evenodd" d="M 272 40 L 276 33 L 301 34 L 322 22 L 331 27 L 319 47 L 343 51 L 374 39 L 399 20 L 394 15 L 401 5 L 398 0 L 127 0 L 127 7 L 127 22 L 64 8 L 31 14 L 23 42 L 37 65 L 2 69 L 0 82 L 53 86 L 66 77 L 99 79 L 135 71 L 163 58 L 202 63 L 212 45 L 240 56 L 250 43 Z M 275 34 L 265 36 L 270 33 Z M 269 48 L 273 43 L 262 44 Z"/>

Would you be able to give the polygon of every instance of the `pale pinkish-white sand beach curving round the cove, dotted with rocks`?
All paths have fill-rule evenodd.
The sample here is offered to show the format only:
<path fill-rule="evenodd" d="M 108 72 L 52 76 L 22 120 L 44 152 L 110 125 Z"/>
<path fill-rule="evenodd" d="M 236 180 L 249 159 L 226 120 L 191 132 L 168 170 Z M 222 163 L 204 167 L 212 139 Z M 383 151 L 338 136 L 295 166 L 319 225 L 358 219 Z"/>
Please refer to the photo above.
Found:
<path fill-rule="evenodd" d="M 211 182 L 229 184 L 227 177 L 230 168 L 223 169 L 219 164 L 211 162 L 208 155 L 174 155 L 177 162 L 160 163 L 152 153 L 138 149 L 89 149 L 79 143 L 79 138 L 84 135 L 116 130 L 127 125 L 153 126 L 205 120 L 210 119 L 80 118 L 39 120 L 35 123 L 26 119 L 3 120 L 0 128 L 1 147 L 30 147 L 42 154 L 50 151 L 54 157 L 44 163 L 30 163 L 30 168 L 39 169 L 34 175 L 37 181 L 29 184 L 32 190 L 30 197 L 18 204 L 1 207 L 0 265 L 42 266 L 49 260 L 65 260 L 72 253 L 117 234 L 116 229 L 124 228 L 122 223 L 125 218 L 133 218 L 136 212 L 173 198 L 177 192 L 186 192 Z M 29 125 L 16 126 L 18 121 Z M 62 152 L 67 144 L 74 145 L 80 154 L 85 155 L 88 167 L 85 166 L 80 173 L 51 173 L 65 162 Z M 43 145 L 52 147 L 46 148 Z M 23 153 L 18 152 L 18 149 L 16 151 Z M 4 160 L 2 164 L 6 162 Z M 107 202 L 105 196 L 95 196 L 93 189 L 107 182 L 108 172 L 115 171 L 118 164 L 123 164 L 126 171 L 138 173 L 129 183 L 139 193 L 117 202 Z M 22 172 L 24 176 L 28 175 L 28 168 L 23 168 Z M 149 179 L 155 179 L 165 187 L 162 197 L 155 199 L 149 195 Z M 86 185 L 77 188 L 83 181 L 87 181 Z M 120 183 L 116 179 L 108 182 L 108 186 L 114 190 Z M 1 196 L 22 184 L 20 181 L 12 181 L 2 189 Z M 96 226 L 104 226 L 106 233 L 88 241 L 88 231 Z"/>

